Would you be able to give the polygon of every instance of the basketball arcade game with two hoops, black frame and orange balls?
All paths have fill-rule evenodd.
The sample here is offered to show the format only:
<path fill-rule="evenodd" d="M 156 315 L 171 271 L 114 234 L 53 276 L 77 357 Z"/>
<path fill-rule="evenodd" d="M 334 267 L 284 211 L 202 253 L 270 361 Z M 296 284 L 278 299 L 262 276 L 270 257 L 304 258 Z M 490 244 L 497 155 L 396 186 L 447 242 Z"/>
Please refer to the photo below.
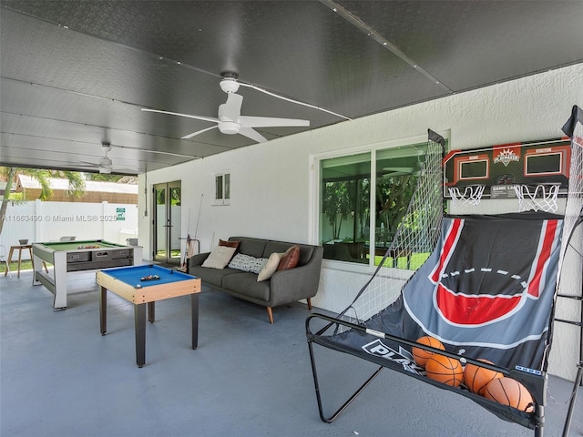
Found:
<path fill-rule="evenodd" d="M 574 117 L 578 117 L 581 129 L 580 109 L 575 116 L 574 108 Z M 576 124 L 573 122 L 573 126 Z M 496 155 L 495 147 L 491 147 L 453 152 L 442 161 L 442 155 L 431 151 L 432 143 L 440 141 L 430 131 L 425 168 L 407 215 L 420 220 L 420 228 L 427 229 L 424 238 L 430 237 L 435 243 L 432 254 L 400 288 L 391 275 L 383 272 L 385 254 L 349 307 L 335 317 L 312 313 L 306 320 L 314 387 L 323 422 L 335 420 L 380 371 L 389 368 L 462 394 L 499 418 L 534 429 L 537 436 L 543 435 L 548 351 L 553 322 L 562 321 L 554 320 L 558 272 L 570 237 L 581 222 L 583 203 L 582 136 L 573 130 L 565 132 L 573 137 L 572 146 L 563 139 L 543 144 L 506 145 L 496 148 Z M 444 142 L 441 144 L 443 147 Z M 577 147 L 577 153 L 571 156 L 566 147 Z M 496 158 L 506 170 L 499 172 L 500 175 L 494 167 Z M 507 166 L 502 163 L 506 159 L 509 159 Z M 455 166 L 448 168 L 448 162 Z M 510 164 L 514 165 L 510 167 Z M 578 175 L 575 184 L 575 181 L 569 183 L 573 175 Z M 541 177 L 554 180 L 541 181 Z M 431 188 L 435 186 L 444 187 L 444 192 L 435 193 Z M 539 186 L 544 188 L 544 193 Z M 548 194 L 547 188 L 551 186 L 553 193 Z M 565 219 L 547 212 L 557 210 L 559 191 L 568 196 Z M 523 197 L 526 194 L 531 202 L 527 206 L 523 201 L 519 210 L 530 211 L 499 216 L 443 217 L 444 197 L 476 205 L 482 196 L 519 199 L 520 194 Z M 407 228 L 410 227 L 397 231 L 387 253 L 398 249 L 403 241 L 410 241 L 412 237 L 407 235 L 410 232 Z M 429 236 L 430 233 L 433 235 Z M 378 303 L 373 306 L 372 302 Z M 583 325 L 581 321 L 569 323 L 579 328 Z M 391 327 L 389 331 L 387 327 Z M 424 344 L 422 337 L 432 337 L 437 343 Z M 329 416 L 323 412 L 315 344 L 379 365 Z M 432 360 L 441 357 L 438 361 L 442 371 L 430 371 L 419 364 L 414 348 L 434 354 Z M 475 374 L 464 378 L 460 374 L 462 366 L 473 367 Z M 487 384 L 477 386 L 473 381 L 478 372 L 496 381 L 490 386 L 486 378 Z M 580 382 L 581 363 L 565 423 L 567 433 Z M 517 396 L 517 399 L 505 401 L 506 396 Z"/>

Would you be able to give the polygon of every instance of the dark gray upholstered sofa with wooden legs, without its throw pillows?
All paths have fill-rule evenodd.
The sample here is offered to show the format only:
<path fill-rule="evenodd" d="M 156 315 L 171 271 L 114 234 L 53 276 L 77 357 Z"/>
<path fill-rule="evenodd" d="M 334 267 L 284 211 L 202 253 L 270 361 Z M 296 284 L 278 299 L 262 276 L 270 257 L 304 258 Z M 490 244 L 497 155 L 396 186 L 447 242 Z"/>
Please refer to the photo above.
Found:
<path fill-rule="evenodd" d="M 295 243 L 248 237 L 230 237 L 229 241 L 240 241 L 238 253 L 254 258 L 269 258 L 273 252 L 285 252 Z M 296 300 L 305 299 L 312 310 L 310 298 L 316 295 L 320 282 L 323 249 L 320 246 L 298 244 L 300 261 L 293 269 L 278 270 L 271 279 L 257 281 L 257 274 L 238 269 L 210 269 L 202 263 L 210 252 L 194 255 L 189 259 L 189 274 L 202 279 L 211 289 L 222 290 L 240 299 L 249 300 L 267 308 L 273 323 L 271 308 Z"/>

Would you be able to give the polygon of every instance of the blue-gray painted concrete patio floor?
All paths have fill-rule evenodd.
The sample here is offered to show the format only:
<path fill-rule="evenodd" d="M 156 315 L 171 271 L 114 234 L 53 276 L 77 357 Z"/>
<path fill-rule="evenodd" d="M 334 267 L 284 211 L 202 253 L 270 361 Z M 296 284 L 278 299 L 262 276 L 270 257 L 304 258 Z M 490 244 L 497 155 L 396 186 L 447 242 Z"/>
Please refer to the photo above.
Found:
<path fill-rule="evenodd" d="M 136 366 L 133 306 L 109 293 L 99 333 L 95 272 L 68 277 L 68 302 L 0 278 L 2 437 L 529 436 L 450 391 L 385 370 L 339 418 L 320 420 L 301 303 L 264 308 L 206 290 L 199 348 L 189 347 L 189 298 L 160 301 Z M 325 406 L 338 408 L 374 369 L 316 349 Z M 549 378 L 546 436 L 559 436 L 573 383 Z M 570 436 L 583 435 L 583 390 Z"/>

